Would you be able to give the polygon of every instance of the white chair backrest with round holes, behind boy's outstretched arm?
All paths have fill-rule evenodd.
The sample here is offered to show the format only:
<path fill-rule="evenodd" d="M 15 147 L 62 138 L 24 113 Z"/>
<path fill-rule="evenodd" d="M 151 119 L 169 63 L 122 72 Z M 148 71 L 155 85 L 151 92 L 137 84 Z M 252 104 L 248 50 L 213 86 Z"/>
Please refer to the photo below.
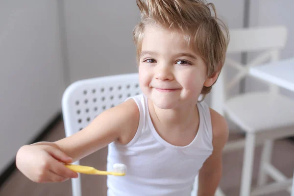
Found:
<path fill-rule="evenodd" d="M 98 114 L 141 93 L 138 73 L 80 80 L 63 94 L 66 137 L 87 126 Z"/>

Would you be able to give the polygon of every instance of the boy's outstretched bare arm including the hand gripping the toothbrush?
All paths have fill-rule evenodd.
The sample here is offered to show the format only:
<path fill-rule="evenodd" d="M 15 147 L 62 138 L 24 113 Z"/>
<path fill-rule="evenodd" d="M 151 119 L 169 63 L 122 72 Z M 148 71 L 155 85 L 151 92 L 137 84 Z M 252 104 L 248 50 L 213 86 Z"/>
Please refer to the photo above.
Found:
<path fill-rule="evenodd" d="M 139 109 L 130 99 L 100 114 L 80 132 L 57 142 L 39 142 L 21 147 L 16 155 L 17 168 L 38 183 L 61 182 L 77 177 L 63 163 L 72 163 L 113 141 L 128 143 L 137 131 Z"/>

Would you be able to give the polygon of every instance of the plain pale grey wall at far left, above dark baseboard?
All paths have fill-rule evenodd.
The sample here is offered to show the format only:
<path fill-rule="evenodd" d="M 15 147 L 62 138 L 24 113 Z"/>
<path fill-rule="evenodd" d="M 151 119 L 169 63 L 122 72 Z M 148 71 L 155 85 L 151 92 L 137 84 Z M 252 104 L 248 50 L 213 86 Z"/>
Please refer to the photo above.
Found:
<path fill-rule="evenodd" d="M 0 172 L 61 109 L 57 1 L 0 1 Z"/>

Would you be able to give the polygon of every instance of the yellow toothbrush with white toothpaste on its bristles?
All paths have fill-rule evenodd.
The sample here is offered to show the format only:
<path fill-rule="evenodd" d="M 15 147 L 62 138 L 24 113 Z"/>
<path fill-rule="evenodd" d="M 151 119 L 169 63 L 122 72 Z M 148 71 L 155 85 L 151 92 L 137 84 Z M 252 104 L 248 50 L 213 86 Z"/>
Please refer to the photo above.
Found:
<path fill-rule="evenodd" d="M 72 164 L 65 164 L 65 166 L 69 168 L 70 170 L 72 170 L 73 172 L 85 173 L 85 174 L 123 176 L 125 175 L 125 172 L 126 172 L 126 166 L 121 163 L 116 163 L 113 165 L 113 170 L 114 170 L 113 172 L 99 171 L 89 166 L 72 165 Z"/>

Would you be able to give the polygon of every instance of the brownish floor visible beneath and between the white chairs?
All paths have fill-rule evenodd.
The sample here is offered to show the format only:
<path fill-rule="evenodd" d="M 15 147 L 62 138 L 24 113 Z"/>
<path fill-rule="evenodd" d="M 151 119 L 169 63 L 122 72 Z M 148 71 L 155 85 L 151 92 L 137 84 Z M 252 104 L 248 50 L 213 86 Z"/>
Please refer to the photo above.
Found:
<path fill-rule="evenodd" d="M 55 141 L 64 137 L 63 123 L 54 127 L 46 141 Z M 232 135 L 230 139 L 241 137 Z M 253 184 L 256 182 L 260 147 L 257 147 L 254 161 Z M 93 166 L 100 170 L 106 169 L 107 148 L 81 160 L 82 165 Z M 227 196 L 238 196 L 240 176 L 242 171 L 243 151 L 235 151 L 223 155 L 223 176 L 221 189 Z M 287 177 L 291 177 L 294 170 L 294 143 L 289 140 L 275 142 L 273 164 Z M 106 177 L 82 175 L 83 196 L 106 196 Z M 37 184 L 28 180 L 21 172 L 15 171 L 0 189 L 0 196 L 71 196 L 71 181 L 51 184 Z M 290 196 L 286 191 L 270 196 Z"/>

